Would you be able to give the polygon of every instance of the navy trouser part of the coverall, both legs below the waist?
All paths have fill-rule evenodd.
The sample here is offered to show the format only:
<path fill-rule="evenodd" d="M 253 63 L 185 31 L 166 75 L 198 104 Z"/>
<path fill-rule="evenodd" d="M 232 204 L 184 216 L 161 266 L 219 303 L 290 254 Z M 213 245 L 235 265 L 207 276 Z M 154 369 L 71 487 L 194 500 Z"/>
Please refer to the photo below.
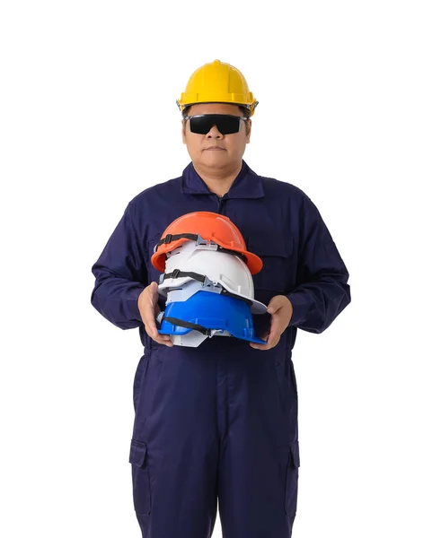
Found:
<path fill-rule="evenodd" d="M 215 337 L 140 360 L 130 446 L 143 538 L 290 538 L 299 467 L 290 352 Z"/>

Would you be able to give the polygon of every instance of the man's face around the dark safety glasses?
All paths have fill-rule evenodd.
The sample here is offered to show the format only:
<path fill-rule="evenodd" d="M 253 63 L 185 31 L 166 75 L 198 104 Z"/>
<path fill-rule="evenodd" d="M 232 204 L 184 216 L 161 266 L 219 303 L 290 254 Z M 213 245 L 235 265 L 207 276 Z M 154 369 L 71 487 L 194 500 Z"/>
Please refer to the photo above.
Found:
<path fill-rule="evenodd" d="M 237 105 L 228 103 L 198 103 L 191 105 L 189 116 L 199 114 L 230 114 L 242 116 L 242 111 Z M 231 169 L 238 166 L 242 161 L 245 145 L 250 142 L 251 120 L 249 126 L 241 120 L 241 128 L 238 133 L 221 134 L 216 126 L 212 126 L 207 134 L 197 134 L 190 131 L 189 120 L 182 120 L 182 142 L 187 144 L 187 151 L 191 161 L 196 166 L 211 169 Z M 222 150 L 208 150 L 210 146 L 218 146 Z"/>

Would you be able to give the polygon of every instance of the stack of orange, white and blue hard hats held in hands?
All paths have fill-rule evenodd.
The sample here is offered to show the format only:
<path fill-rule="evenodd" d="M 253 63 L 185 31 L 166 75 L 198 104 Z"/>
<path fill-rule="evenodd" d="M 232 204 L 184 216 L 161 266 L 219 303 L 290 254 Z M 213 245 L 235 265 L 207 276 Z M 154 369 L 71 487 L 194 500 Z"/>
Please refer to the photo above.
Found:
<path fill-rule="evenodd" d="M 251 276 L 262 262 L 228 217 L 182 215 L 163 232 L 152 265 L 162 272 L 158 292 L 167 298 L 158 333 L 170 334 L 172 343 L 197 347 L 215 335 L 265 343 L 254 334 L 251 316 L 267 311 L 254 299 Z"/>

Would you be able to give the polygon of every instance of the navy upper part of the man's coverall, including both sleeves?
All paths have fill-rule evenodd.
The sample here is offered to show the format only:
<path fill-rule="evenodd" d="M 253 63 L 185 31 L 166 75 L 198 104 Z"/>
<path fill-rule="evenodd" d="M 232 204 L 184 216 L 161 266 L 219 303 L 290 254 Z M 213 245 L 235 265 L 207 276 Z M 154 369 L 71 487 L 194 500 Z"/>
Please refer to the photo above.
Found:
<path fill-rule="evenodd" d="M 350 302 L 348 270 L 312 200 L 291 184 L 257 175 L 245 161 L 228 193 L 219 200 L 192 162 L 182 176 L 149 187 L 128 203 L 101 256 L 92 267 L 92 304 L 121 329 L 138 327 L 148 343 L 137 297 L 160 273 L 150 263 L 163 230 L 179 216 L 211 211 L 228 216 L 247 247 L 262 258 L 253 275 L 255 298 L 269 303 L 287 295 L 293 316 L 287 328 L 294 346 L 297 328 L 322 333 Z M 165 299 L 159 304 L 164 309 Z M 270 316 L 254 316 L 259 336 Z"/>

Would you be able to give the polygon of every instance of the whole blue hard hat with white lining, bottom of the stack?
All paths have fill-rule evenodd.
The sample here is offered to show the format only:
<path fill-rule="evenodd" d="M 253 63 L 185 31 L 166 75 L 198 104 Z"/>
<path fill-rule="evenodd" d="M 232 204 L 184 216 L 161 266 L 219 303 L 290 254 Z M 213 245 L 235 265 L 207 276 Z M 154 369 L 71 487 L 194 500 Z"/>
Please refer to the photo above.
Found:
<path fill-rule="evenodd" d="M 254 334 L 248 305 L 228 295 L 198 291 L 185 301 L 169 302 L 160 319 L 158 333 L 170 334 L 173 344 L 196 347 L 207 337 L 225 333 L 248 342 L 266 343 Z M 195 339 L 190 334 L 193 331 L 202 338 L 197 335 Z M 183 338 L 186 334 L 190 334 L 187 341 Z"/>

